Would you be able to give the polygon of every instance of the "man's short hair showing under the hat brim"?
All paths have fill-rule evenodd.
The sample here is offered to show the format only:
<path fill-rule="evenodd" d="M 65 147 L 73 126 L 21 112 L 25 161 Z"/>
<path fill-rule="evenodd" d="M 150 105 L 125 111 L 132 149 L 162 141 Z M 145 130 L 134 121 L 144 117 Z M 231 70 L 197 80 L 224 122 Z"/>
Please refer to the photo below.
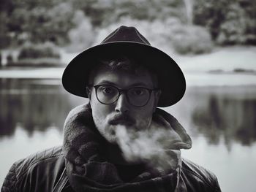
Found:
<path fill-rule="evenodd" d="M 103 58 L 97 61 L 97 64 L 94 68 L 91 69 L 89 73 L 89 85 L 92 83 L 92 78 L 95 74 L 101 69 L 108 69 L 110 71 L 124 71 L 124 72 L 131 72 L 133 74 L 140 74 L 141 72 L 148 72 L 153 80 L 155 88 L 158 85 L 157 75 L 151 70 L 146 68 L 145 66 L 141 65 L 140 62 L 135 58 L 127 57 L 127 56 L 120 56 L 118 58 Z"/>

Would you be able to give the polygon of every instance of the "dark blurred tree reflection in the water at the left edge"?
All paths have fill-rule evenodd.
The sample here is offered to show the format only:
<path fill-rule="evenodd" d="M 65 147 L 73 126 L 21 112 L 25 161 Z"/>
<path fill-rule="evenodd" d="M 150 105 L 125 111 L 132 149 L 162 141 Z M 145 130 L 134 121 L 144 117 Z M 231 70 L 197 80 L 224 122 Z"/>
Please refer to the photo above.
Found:
<path fill-rule="evenodd" d="M 55 80 L 56 81 L 56 80 Z M 11 136 L 20 126 L 29 134 L 56 126 L 61 131 L 72 108 L 59 82 L 1 80 L 0 137 Z"/>

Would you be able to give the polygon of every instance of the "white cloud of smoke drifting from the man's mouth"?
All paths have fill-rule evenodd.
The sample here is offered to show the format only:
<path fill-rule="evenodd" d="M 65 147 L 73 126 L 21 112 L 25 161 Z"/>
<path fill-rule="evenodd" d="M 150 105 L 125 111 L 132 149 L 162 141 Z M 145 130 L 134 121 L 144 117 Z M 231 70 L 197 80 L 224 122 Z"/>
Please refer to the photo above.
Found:
<path fill-rule="evenodd" d="M 176 169 L 181 155 L 179 149 L 184 145 L 173 128 L 159 128 L 154 123 L 140 131 L 118 125 L 116 137 L 127 161 L 146 162 L 159 172 Z"/>

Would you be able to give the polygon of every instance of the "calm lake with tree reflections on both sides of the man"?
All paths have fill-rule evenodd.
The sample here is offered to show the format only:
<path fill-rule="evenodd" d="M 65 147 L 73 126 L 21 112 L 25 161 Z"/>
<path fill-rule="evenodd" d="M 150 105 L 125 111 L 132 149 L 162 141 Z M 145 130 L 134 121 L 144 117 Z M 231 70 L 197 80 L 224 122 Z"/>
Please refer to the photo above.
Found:
<path fill-rule="evenodd" d="M 0 185 L 12 163 L 61 145 L 62 126 L 73 107 L 87 102 L 61 80 L 0 79 Z M 256 85 L 189 86 L 165 110 L 193 140 L 184 158 L 214 172 L 222 191 L 255 191 Z"/>

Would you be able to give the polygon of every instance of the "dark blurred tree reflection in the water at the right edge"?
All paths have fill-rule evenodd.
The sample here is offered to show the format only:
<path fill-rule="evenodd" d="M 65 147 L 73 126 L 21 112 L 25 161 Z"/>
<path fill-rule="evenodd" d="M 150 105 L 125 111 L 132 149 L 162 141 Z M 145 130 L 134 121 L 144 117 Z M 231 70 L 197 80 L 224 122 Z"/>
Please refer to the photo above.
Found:
<path fill-rule="evenodd" d="M 210 91 L 192 111 L 192 122 L 211 144 L 217 145 L 222 136 L 227 148 L 233 140 L 242 145 L 252 145 L 256 140 L 256 91 L 246 95 L 246 88 L 236 89 L 241 92 L 233 93 L 234 88 L 222 88 L 221 93 Z"/>

